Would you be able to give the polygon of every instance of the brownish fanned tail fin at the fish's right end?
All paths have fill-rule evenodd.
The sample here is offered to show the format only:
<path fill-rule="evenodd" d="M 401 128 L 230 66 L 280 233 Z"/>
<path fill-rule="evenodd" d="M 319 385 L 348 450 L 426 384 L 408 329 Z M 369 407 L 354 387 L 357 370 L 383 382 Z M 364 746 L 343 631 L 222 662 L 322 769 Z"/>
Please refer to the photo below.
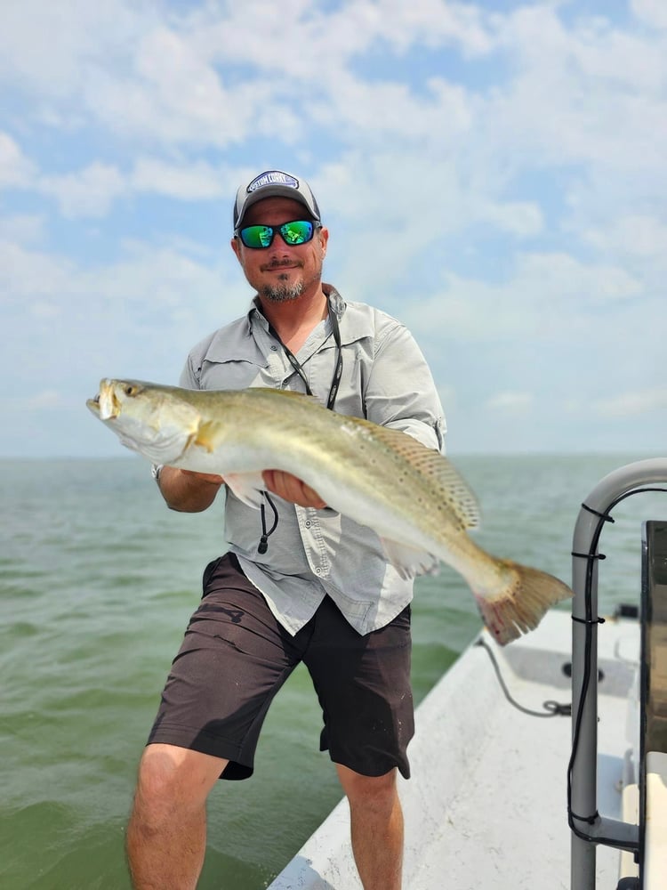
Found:
<path fill-rule="evenodd" d="M 559 578 L 511 560 L 498 560 L 503 586 L 500 591 L 474 590 L 482 619 L 497 643 L 504 646 L 534 630 L 545 612 L 572 590 Z"/>

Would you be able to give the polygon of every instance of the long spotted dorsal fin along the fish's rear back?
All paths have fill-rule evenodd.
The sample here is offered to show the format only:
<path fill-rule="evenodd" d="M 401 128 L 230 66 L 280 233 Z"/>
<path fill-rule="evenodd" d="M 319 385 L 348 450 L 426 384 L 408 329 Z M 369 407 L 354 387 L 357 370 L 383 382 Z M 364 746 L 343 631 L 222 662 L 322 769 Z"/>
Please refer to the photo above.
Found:
<path fill-rule="evenodd" d="M 357 417 L 347 418 L 351 424 L 366 426 L 367 421 Z M 427 448 L 409 433 L 389 426 L 375 426 L 371 433 L 386 447 L 396 451 L 414 470 L 422 475 L 434 497 L 439 498 L 464 529 L 479 526 L 479 506 L 468 483 L 445 455 Z"/>

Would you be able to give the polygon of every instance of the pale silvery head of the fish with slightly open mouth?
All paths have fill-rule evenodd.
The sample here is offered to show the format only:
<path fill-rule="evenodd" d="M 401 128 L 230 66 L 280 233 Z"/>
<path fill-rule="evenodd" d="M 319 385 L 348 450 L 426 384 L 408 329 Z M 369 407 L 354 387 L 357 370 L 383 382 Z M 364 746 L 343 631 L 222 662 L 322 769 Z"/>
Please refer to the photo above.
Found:
<path fill-rule="evenodd" d="M 141 380 L 105 377 L 86 405 L 126 448 L 158 464 L 181 457 L 200 423 L 197 409 L 178 399 L 172 387 Z"/>

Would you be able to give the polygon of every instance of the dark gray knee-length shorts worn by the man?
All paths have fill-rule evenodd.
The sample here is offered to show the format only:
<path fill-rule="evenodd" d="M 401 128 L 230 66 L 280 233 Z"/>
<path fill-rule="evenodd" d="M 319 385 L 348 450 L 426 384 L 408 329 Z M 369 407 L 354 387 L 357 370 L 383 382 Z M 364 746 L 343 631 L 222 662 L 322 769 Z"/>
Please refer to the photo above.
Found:
<path fill-rule="evenodd" d="M 269 705 L 301 661 L 322 713 L 320 750 L 356 773 L 410 775 L 414 734 L 410 607 L 366 636 L 325 596 L 292 636 L 245 578 L 233 554 L 211 562 L 204 596 L 167 678 L 149 744 L 229 760 L 222 779 L 246 779 Z"/>

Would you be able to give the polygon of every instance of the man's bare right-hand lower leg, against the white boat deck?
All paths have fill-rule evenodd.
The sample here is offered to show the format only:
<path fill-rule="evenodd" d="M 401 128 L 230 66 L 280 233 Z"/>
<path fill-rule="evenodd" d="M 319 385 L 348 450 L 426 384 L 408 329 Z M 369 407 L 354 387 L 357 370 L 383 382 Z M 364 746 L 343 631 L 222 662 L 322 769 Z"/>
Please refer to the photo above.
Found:
<path fill-rule="evenodd" d="M 352 852 L 364 890 L 400 890 L 403 870 L 403 811 L 396 770 L 363 776 L 336 765 L 350 804 Z"/>

